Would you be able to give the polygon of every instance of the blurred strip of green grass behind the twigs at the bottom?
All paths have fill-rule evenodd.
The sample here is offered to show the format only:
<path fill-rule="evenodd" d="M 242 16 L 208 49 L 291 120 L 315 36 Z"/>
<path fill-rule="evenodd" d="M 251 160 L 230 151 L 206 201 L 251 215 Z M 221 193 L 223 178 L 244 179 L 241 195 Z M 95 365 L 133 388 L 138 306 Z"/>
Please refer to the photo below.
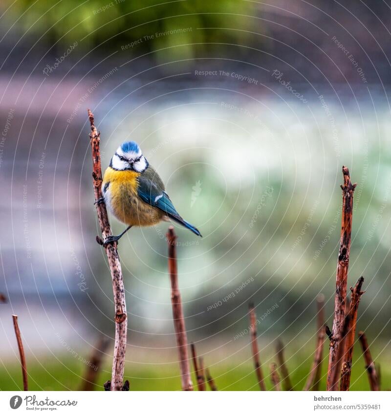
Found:
<path fill-rule="evenodd" d="M 359 355 L 353 359 L 353 370 L 351 375 L 351 390 L 368 391 L 369 383 L 367 374 L 364 369 L 364 361 Z M 287 357 L 289 353 L 286 351 Z M 302 357 L 302 358 L 300 358 Z M 385 359 L 386 356 L 384 356 Z M 130 358 L 130 357 L 128 357 Z M 38 360 L 39 359 L 39 360 Z M 382 366 L 382 385 L 383 389 L 388 389 L 391 384 L 391 371 L 386 367 L 387 360 Z M 304 386 L 305 379 L 308 375 L 309 367 L 312 361 L 306 356 L 299 356 L 295 362 L 288 360 L 287 366 L 295 390 L 301 390 Z M 262 364 L 262 369 L 266 375 L 266 385 L 271 388 L 269 380 L 269 359 Z M 256 376 L 253 371 L 251 360 L 244 363 L 230 362 L 231 366 L 213 365 L 210 366 L 212 376 L 215 378 L 219 390 L 225 391 L 258 391 Z M 323 364 L 323 379 L 321 389 L 325 389 L 326 359 Z M 296 368 L 296 369 L 295 369 Z M 81 376 L 83 375 L 86 365 L 76 358 L 59 356 L 59 360 L 53 357 L 42 356 L 37 359 L 30 357 L 28 359 L 29 373 L 29 390 L 30 391 L 62 391 L 78 390 Z M 98 376 L 98 385 L 109 379 L 110 375 L 109 362 L 103 368 Z M 132 391 L 173 391 L 180 389 L 180 378 L 178 376 L 179 368 L 176 363 L 149 365 L 149 364 L 132 364 L 127 363 L 125 378 L 130 381 Z M 195 383 L 195 378 L 193 377 Z M 20 390 L 22 385 L 21 368 L 15 362 L 2 361 L 0 363 L 0 390 L 11 391 Z M 102 390 L 101 386 L 96 386 L 96 390 Z"/>

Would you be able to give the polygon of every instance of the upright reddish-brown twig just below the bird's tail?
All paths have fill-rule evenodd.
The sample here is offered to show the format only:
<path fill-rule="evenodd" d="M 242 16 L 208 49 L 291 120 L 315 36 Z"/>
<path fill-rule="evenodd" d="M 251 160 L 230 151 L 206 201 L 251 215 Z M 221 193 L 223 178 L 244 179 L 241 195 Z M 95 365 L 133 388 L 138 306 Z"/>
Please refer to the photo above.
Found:
<path fill-rule="evenodd" d="M 174 328 L 176 334 L 176 344 L 179 354 L 179 367 L 181 372 L 181 382 L 183 391 L 193 391 L 193 383 L 190 376 L 189 356 L 187 352 L 187 335 L 185 319 L 183 317 L 182 302 L 178 286 L 178 271 L 176 266 L 175 251 L 176 236 L 174 227 L 170 226 L 167 232 L 168 241 L 168 269 L 171 281 L 171 303 L 173 306 Z"/>

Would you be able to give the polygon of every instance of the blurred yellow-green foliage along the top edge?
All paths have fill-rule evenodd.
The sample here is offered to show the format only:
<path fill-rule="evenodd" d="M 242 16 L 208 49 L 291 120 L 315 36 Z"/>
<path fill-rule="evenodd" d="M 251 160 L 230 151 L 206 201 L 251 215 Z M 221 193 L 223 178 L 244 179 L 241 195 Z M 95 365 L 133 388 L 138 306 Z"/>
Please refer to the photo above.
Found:
<path fill-rule="evenodd" d="M 12 1 L 5 3 L 7 7 Z M 104 43 L 105 50 L 132 50 L 135 55 L 170 48 L 164 51 L 166 57 L 184 59 L 205 50 L 208 43 L 241 44 L 245 30 L 258 24 L 244 16 L 251 15 L 252 8 L 246 1 L 238 8 L 237 0 L 21 0 L 6 16 L 20 17 L 23 31 L 47 31 L 44 39 L 50 45 L 59 40 L 58 46 L 65 47 L 76 41 L 85 52 Z"/>

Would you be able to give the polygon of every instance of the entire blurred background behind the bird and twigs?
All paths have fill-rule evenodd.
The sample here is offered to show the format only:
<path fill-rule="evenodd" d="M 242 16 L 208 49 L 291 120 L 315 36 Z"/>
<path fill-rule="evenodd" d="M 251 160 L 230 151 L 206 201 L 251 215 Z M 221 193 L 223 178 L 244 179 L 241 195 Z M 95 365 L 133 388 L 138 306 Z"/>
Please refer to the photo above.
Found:
<path fill-rule="evenodd" d="M 332 325 L 347 165 L 348 284 L 365 278 L 357 329 L 390 387 L 388 1 L 3 0 L 0 22 L 1 390 L 22 387 L 13 313 L 31 390 L 77 389 L 99 338 L 114 336 L 87 108 L 103 166 L 137 141 L 203 234 L 176 227 L 179 284 L 188 340 L 220 390 L 258 390 L 249 302 L 268 387 L 277 338 L 303 387 L 319 293 Z M 119 244 L 131 390 L 180 389 L 167 226 Z M 99 390 L 111 358 L 112 345 Z M 358 344 L 351 389 L 369 389 Z"/>

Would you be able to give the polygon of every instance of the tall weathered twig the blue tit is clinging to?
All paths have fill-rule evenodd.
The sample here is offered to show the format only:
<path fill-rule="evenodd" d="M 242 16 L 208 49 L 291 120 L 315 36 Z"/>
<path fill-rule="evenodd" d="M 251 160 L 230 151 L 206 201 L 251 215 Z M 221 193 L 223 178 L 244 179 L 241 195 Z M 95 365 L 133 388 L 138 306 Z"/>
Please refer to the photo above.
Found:
<path fill-rule="evenodd" d="M 105 240 L 112 235 L 109 217 L 106 210 L 106 204 L 102 201 L 102 167 L 100 155 L 100 137 L 94 125 L 94 114 L 88 109 L 88 117 L 91 125 L 90 144 L 92 150 L 92 178 L 94 186 L 94 195 L 96 203 L 96 212 L 98 215 L 99 225 L 102 231 L 102 237 Z M 121 263 L 119 262 L 117 246 L 115 243 L 109 243 L 105 247 L 106 255 L 109 261 L 109 268 L 113 284 L 114 308 L 115 308 L 115 342 L 113 365 L 111 371 L 111 390 L 120 391 L 123 388 L 125 353 L 128 332 L 128 319 L 125 304 L 125 288 L 122 278 Z"/>

